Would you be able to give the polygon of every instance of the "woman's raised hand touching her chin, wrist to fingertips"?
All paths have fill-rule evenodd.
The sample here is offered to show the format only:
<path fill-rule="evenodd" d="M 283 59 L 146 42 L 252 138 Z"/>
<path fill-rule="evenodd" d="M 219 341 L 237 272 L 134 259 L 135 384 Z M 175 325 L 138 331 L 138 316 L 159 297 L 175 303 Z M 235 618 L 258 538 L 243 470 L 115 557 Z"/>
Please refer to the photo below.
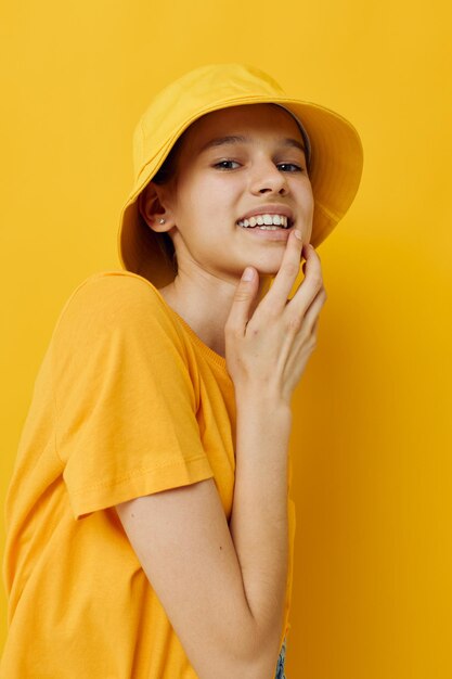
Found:
<path fill-rule="evenodd" d="M 259 286 L 256 269 L 242 278 L 224 326 L 225 359 L 235 389 L 263 390 L 266 396 L 290 403 L 310 355 L 317 346 L 319 313 L 325 300 L 319 255 L 305 246 L 306 278 L 287 299 L 299 272 L 301 241 L 295 232 L 287 239 L 281 268 L 273 285 L 250 309 Z"/>

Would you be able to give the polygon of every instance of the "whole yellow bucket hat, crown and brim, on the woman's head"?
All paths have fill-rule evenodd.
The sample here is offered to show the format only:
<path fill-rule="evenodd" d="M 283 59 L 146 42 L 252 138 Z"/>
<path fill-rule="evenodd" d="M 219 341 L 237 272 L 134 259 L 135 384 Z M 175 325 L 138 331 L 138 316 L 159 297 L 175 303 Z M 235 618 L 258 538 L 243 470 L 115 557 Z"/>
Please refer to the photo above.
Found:
<path fill-rule="evenodd" d="M 162 287 L 175 278 L 156 234 L 138 209 L 138 196 L 171 148 L 197 118 L 229 106 L 274 103 L 290 113 L 308 144 L 314 197 L 311 243 L 333 231 L 350 207 L 361 180 L 363 150 L 354 127 L 337 113 L 287 95 L 262 71 L 245 64 L 202 66 L 171 82 L 152 101 L 133 134 L 134 187 L 120 215 L 119 260 L 124 269 Z"/>

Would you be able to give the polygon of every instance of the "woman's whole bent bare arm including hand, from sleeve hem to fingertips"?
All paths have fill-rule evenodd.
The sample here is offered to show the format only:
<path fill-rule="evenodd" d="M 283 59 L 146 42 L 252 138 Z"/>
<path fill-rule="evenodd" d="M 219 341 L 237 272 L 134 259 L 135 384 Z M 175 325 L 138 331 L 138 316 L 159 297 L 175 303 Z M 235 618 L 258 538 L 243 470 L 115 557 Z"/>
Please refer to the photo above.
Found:
<path fill-rule="evenodd" d="M 315 346 L 325 297 L 320 260 L 310 253 L 306 280 L 287 303 L 300 247 L 292 234 L 273 286 L 250 320 L 256 272 L 242 281 L 228 320 L 237 411 L 230 526 L 211 478 L 117 507 L 201 679 L 274 677 L 287 578 L 290 396 Z"/>

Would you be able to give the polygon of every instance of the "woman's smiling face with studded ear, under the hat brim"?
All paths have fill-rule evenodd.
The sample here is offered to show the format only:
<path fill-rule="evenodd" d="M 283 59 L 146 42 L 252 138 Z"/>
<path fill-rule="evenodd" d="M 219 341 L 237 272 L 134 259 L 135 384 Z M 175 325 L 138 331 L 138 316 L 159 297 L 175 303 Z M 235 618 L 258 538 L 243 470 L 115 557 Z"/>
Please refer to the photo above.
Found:
<path fill-rule="evenodd" d="M 290 229 L 237 223 L 250 215 L 288 216 L 309 243 L 313 196 L 300 146 L 298 125 L 272 104 L 215 111 L 186 130 L 175 180 L 158 188 L 179 271 L 236 280 L 251 265 L 275 274 Z"/>

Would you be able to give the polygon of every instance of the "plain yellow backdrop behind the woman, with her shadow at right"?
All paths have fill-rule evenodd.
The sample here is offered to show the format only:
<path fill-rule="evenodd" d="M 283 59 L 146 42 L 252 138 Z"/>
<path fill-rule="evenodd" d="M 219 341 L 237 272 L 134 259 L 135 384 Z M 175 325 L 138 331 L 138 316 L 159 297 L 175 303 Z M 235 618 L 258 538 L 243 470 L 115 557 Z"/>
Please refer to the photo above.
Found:
<path fill-rule="evenodd" d="M 449 3 L 2 8 L 1 502 L 64 302 L 119 267 L 139 115 L 191 68 L 250 63 L 348 117 L 365 153 L 358 197 L 319 248 L 328 300 L 296 395 L 286 674 L 450 678 Z"/>

